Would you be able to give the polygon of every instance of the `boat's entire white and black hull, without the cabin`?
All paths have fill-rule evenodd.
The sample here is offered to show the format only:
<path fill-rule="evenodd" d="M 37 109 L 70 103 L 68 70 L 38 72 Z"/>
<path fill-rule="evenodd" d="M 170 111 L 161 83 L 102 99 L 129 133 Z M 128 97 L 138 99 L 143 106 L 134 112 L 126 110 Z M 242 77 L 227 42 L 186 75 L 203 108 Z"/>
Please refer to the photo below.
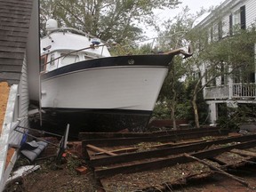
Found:
<path fill-rule="evenodd" d="M 172 60 L 159 56 L 88 60 L 44 74 L 44 119 L 79 131 L 143 130 Z"/>

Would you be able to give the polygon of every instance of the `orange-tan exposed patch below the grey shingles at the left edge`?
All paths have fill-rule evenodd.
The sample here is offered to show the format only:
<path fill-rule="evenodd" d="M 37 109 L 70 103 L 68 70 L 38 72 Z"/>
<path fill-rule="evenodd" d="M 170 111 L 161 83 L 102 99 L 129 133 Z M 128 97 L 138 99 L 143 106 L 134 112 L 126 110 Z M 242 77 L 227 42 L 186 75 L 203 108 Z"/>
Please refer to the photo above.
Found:
<path fill-rule="evenodd" d="M 6 82 L 0 83 L 0 134 L 4 122 L 5 109 L 7 106 L 7 100 L 10 92 L 10 87 Z"/>

